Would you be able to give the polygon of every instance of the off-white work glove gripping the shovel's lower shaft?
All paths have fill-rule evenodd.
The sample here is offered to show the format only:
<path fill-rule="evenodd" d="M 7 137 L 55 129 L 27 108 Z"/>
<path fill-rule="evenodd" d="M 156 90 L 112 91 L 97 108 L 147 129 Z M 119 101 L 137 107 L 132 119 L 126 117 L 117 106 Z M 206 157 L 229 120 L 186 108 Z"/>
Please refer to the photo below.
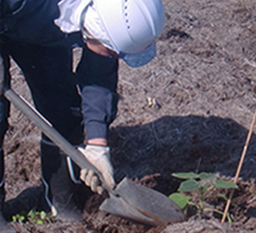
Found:
<path fill-rule="evenodd" d="M 101 172 L 105 183 L 113 189 L 115 180 L 113 177 L 114 169 L 110 163 L 110 148 L 108 146 L 87 145 L 85 148 L 78 147 L 78 150 L 82 152 L 84 157 L 88 159 L 99 172 Z M 82 179 L 87 186 L 90 186 L 93 192 L 97 192 L 100 195 L 103 193 L 104 188 L 101 186 L 101 182 L 95 172 L 82 169 L 80 171 L 80 179 Z"/>

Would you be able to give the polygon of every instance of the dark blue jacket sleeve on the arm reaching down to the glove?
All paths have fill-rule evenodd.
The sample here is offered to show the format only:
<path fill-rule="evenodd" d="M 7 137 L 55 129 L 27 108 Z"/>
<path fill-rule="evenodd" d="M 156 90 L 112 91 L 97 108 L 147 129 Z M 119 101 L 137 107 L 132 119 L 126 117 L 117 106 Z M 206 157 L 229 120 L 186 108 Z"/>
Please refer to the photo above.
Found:
<path fill-rule="evenodd" d="M 77 77 L 87 140 L 107 139 L 108 127 L 117 112 L 117 71 L 117 59 L 97 55 L 84 48 Z"/>

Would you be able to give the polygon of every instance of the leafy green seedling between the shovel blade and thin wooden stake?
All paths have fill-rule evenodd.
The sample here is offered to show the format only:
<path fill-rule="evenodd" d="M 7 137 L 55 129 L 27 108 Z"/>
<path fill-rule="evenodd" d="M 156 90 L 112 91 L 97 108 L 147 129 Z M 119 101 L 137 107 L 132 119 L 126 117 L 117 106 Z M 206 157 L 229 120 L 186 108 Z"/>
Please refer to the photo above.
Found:
<path fill-rule="evenodd" d="M 214 187 L 217 187 L 218 189 L 238 189 L 238 185 L 233 182 L 223 179 L 214 181 L 217 178 L 214 173 L 201 172 L 196 174 L 193 172 L 184 172 L 173 173 L 172 176 L 179 179 L 185 179 L 185 181 L 180 183 L 178 192 L 172 193 L 169 198 L 183 210 L 187 209 L 189 205 L 195 206 L 200 211 L 201 215 L 205 211 L 214 211 L 223 215 L 223 212 L 219 210 L 204 208 L 204 201 L 209 197 L 208 193 L 211 189 Z M 209 182 L 211 180 L 213 180 L 213 182 Z M 197 197 L 183 194 L 183 192 L 187 193 L 194 190 L 198 190 L 199 194 Z M 221 193 L 218 193 L 216 196 L 227 199 L 227 197 Z M 199 204 L 195 203 L 196 199 L 199 199 Z M 230 215 L 228 215 L 228 220 L 229 222 L 232 222 Z"/>

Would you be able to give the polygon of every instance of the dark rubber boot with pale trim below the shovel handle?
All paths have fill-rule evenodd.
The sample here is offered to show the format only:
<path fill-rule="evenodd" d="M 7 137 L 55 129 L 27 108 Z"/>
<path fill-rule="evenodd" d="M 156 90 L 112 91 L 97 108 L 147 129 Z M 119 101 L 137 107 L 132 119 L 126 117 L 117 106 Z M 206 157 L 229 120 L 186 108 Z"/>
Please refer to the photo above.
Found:
<path fill-rule="evenodd" d="M 82 220 L 85 200 L 91 191 L 79 179 L 79 169 L 51 141 L 41 142 L 45 210 L 53 216 Z"/>

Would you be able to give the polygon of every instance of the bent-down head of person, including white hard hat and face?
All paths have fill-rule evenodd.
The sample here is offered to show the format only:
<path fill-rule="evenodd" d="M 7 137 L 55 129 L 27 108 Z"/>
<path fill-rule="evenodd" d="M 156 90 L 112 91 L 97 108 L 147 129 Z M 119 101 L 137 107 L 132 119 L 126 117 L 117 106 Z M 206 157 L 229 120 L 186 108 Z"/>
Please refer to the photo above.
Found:
<path fill-rule="evenodd" d="M 96 53 L 117 54 L 139 67 L 155 56 L 164 16 L 161 0 L 91 0 L 81 15 L 81 30 Z"/>

